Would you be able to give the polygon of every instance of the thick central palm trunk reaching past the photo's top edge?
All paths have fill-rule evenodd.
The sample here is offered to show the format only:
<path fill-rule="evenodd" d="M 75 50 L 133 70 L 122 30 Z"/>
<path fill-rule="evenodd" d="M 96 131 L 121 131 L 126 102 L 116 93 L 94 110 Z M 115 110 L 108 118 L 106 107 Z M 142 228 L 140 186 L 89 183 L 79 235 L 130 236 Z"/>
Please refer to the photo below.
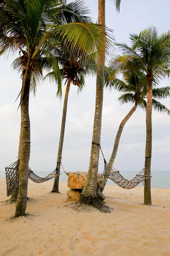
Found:
<path fill-rule="evenodd" d="M 98 0 L 99 25 L 105 26 L 105 0 Z M 92 141 L 100 144 L 101 128 L 102 128 L 102 106 L 103 106 L 103 87 L 105 74 L 105 48 L 102 54 L 98 55 L 97 61 L 97 77 L 96 77 L 96 106 L 94 115 L 94 127 Z M 99 146 L 91 145 L 91 157 L 88 170 L 88 176 L 85 186 L 82 190 L 80 200 L 81 203 L 94 204 L 97 199 L 97 174 L 99 164 Z"/>

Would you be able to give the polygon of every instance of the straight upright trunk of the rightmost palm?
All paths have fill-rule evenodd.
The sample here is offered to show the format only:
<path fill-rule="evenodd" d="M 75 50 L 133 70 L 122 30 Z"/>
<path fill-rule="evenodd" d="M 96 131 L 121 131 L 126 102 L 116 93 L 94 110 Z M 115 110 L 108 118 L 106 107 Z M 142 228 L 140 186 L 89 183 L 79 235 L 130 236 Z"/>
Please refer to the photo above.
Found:
<path fill-rule="evenodd" d="M 145 166 L 150 175 L 151 156 L 152 156 L 152 81 L 153 77 L 148 76 L 148 96 L 146 106 L 146 147 L 145 147 Z M 150 205 L 151 190 L 150 178 L 144 181 L 144 204 Z"/>

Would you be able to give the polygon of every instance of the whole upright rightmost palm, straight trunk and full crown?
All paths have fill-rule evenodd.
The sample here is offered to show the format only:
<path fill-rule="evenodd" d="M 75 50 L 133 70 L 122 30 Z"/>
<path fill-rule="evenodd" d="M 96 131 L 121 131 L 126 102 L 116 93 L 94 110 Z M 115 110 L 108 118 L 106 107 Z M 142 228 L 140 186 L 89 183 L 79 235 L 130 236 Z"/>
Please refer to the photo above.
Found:
<path fill-rule="evenodd" d="M 127 44 L 117 44 L 123 56 L 116 56 L 112 68 L 114 73 L 119 73 L 120 70 L 141 70 L 147 76 L 145 164 L 150 173 L 153 84 L 164 79 L 170 72 L 170 32 L 158 35 L 155 27 L 149 27 L 139 35 L 130 35 L 130 41 L 131 47 Z M 150 178 L 144 182 L 144 204 L 152 204 Z"/>

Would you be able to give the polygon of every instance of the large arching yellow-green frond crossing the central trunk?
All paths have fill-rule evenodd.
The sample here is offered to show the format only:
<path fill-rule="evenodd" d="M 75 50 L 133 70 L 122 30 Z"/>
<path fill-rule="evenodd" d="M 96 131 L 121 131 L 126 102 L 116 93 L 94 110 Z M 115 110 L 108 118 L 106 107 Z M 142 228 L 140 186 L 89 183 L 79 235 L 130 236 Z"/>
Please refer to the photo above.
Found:
<path fill-rule="evenodd" d="M 79 55 L 83 55 L 85 52 L 88 52 L 89 55 L 98 52 L 100 55 L 102 54 L 102 47 L 106 45 L 106 55 L 109 56 L 113 49 L 110 35 L 106 34 L 105 36 L 102 27 L 97 24 L 68 23 L 65 25 L 52 25 L 49 26 L 49 29 L 49 34 L 52 36 L 54 44 L 60 37 L 60 40 L 64 41 L 71 51 L 74 52 L 75 49 L 79 49 Z M 46 40 L 45 36 L 40 44 L 43 44 L 43 41 Z M 88 59 L 88 61 L 91 60 Z"/>

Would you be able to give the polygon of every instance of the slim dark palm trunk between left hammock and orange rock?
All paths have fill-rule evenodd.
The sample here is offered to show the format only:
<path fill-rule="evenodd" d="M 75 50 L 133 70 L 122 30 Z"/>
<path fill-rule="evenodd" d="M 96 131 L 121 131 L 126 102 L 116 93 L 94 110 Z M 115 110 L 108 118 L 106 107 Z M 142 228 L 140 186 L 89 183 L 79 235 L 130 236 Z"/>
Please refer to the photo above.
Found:
<path fill-rule="evenodd" d="M 63 105 L 63 111 L 62 111 L 61 131 L 60 131 L 60 138 L 59 138 L 59 148 L 58 148 L 58 155 L 57 155 L 56 174 L 60 173 L 60 162 L 62 159 L 62 147 L 64 142 L 65 122 L 66 122 L 66 115 L 67 115 L 68 93 L 70 90 L 70 84 L 71 84 L 71 77 L 69 77 L 68 79 L 67 87 L 65 90 L 64 105 Z M 59 193 L 59 175 L 54 178 L 53 189 L 51 192 Z"/>

